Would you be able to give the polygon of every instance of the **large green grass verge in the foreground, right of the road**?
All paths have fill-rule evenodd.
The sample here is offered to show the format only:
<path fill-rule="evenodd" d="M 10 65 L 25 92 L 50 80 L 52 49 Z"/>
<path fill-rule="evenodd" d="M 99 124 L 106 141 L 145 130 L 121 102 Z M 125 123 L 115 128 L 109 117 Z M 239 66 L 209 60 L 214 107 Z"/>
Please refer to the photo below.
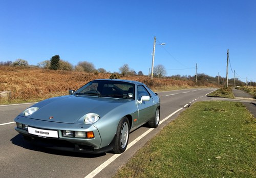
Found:
<path fill-rule="evenodd" d="M 197 102 L 114 177 L 256 177 L 256 122 L 239 102 Z"/>

